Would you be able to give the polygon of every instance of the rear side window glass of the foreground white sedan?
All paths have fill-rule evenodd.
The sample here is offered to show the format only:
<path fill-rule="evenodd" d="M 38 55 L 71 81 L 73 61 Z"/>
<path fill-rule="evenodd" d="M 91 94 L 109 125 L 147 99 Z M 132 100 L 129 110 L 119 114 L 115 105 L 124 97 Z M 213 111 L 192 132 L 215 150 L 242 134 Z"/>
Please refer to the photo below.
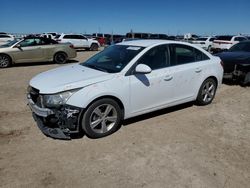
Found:
<path fill-rule="evenodd" d="M 209 59 L 209 57 L 200 50 L 182 44 L 171 45 L 170 53 L 171 65 L 181 65 Z"/>

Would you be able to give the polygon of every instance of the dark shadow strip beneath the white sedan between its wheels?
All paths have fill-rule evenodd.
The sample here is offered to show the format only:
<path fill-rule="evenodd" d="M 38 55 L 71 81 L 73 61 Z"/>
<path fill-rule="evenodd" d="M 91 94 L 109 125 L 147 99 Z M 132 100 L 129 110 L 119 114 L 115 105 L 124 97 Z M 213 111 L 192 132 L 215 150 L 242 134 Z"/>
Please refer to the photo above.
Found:
<path fill-rule="evenodd" d="M 179 110 L 183 110 L 185 108 L 189 108 L 191 106 L 194 105 L 194 102 L 188 102 L 188 103 L 184 103 L 184 104 L 180 104 L 177 106 L 173 106 L 173 107 L 169 107 L 169 108 L 164 108 L 162 110 L 157 110 L 154 112 L 150 112 L 150 113 L 146 113 L 143 115 L 139 115 L 133 118 L 129 118 L 127 120 L 124 120 L 122 125 L 123 126 L 128 126 L 128 125 L 132 125 L 133 123 L 137 123 L 143 120 L 147 120 L 147 119 L 151 119 L 160 115 L 164 115 L 164 114 L 168 114 L 171 112 L 175 112 L 175 111 L 179 111 Z"/>

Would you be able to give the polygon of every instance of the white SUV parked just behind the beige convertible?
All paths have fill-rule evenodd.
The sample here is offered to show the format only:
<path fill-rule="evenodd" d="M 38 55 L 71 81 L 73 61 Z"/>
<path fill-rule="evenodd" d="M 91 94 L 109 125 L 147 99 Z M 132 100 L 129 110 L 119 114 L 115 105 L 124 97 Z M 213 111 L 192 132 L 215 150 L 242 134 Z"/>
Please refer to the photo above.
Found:
<path fill-rule="evenodd" d="M 100 44 L 97 40 L 88 39 L 80 34 L 61 34 L 55 39 L 59 43 L 70 42 L 75 48 L 84 48 L 86 50 L 98 50 Z"/>

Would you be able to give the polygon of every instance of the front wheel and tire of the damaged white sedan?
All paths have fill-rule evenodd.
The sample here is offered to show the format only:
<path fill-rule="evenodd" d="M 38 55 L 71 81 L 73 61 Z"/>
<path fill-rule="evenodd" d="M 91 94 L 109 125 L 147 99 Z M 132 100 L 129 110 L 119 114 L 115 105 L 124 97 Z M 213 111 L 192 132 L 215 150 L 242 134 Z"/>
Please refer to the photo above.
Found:
<path fill-rule="evenodd" d="M 104 98 L 92 103 L 85 111 L 81 124 L 90 138 L 101 138 L 114 133 L 120 126 L 122 111 L 112 99 Z"/>

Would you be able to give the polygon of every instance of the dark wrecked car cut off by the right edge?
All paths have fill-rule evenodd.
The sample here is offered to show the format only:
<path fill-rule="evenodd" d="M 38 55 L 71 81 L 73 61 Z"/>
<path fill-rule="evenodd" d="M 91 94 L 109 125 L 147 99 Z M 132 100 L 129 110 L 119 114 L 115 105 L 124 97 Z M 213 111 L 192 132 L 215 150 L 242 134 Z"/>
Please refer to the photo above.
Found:
<path fill-rule="evenodd" d="M 250 83 L 250 41 L 240 42 L 228 51 L 215 54 L 224 64 L 224 78 Z"/>

